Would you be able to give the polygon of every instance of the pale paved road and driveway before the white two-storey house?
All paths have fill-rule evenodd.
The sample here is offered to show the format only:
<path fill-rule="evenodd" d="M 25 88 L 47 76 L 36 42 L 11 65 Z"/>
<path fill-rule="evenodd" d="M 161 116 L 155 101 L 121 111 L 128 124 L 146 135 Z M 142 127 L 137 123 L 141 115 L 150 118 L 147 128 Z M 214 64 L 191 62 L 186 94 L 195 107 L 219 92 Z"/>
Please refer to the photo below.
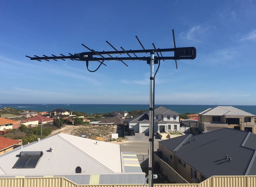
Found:
<path fill-rule="evenodd" d="M 120 143 L 121 152 L 133 152 L 136 154 L 148 154 L 148 134 L 136 133 L 135 136 L 126 136 L 128 141 Z M 154 151 L 157 151 L 158 137 L 154 139 Z"/>

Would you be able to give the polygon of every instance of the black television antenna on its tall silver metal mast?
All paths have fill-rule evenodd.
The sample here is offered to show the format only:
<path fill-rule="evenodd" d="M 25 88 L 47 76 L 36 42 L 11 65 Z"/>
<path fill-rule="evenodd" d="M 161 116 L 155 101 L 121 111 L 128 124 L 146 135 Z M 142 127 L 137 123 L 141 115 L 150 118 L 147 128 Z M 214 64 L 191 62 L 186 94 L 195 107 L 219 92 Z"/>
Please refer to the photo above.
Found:
<path fill-rule="evenodd" d="M 195 47 L 181 47 L 181 48 L 176 48 L 175 45 L 175 38 L 174 38 L 174 31 L 172 30 L 172 35 L 173 35 L 173 43 L 174 43 L 174 48 L 168 48 L 168 49 L 156 49 L 154 43 L 153 48 L 154 49 L 145 49 L 141 43 L 141 41 L 139 40 L 139 38 L 136 36 L 136 39 L 138 40 L 140 46 L 143 48 L 143 50 L 125 50 L 123 47 L 120 47 L 122 49 L 122 51 L 118 51 L 114 46 L 112 46 L 108 41 L 106 41 L 107 44 L 109 44 L 114 51 L 95 51 L 93 49 L 88 48 L 87 46 L 85 46 L 84 44 L 82 44 L 82 46 L 84 46 L 86 49 L 89 50 L 89 52 L 82 52 L 82 53 L 74 53 L 71 54 L 69 53 L 69 55 L 63 55 L 60 53 L 61 56 L 56 56 L 53 55 L 52 56 L 46 56 L 43 55 L 42 57 L 39 57 L 37 55 L 34 55 L 35 57 L 30 57 L 27 56 L 28 58 L 30 58 L 30 60 L 36 60 L 39 62 L 42 62 L 42 60 L 48 61 L 49 60 L 62 60 L 65 61 L 65 59 L 69 59 L 72 61 L 85 61 L 86 62 L 86 68 L 88 71 L 90 72 L 95 72 L 97 71 L 100 66 L 103 64 L 104 66 L 106 66 L 106 64 L 104 64 L 103 62 L 106 61 L 120 61 L 122 62 L 124 65 L 128 66 L 126 63 L 124 63 L 123 61 L 126 60 L 139 60 L 139 61 L 146 61 L 147 64 L 150 65 L 150 126 L 149 126 L 149 158 L 148 158 L 148 186 L 149 187 L 153 187 L 153 151 L 154 151 L 154 107 L 155 107 L 155 75 L 159 69 L 160 66 L 160 61 L 163 60 L 165 62 L 165 60 L 175 60 L 175 64 L 176 64 L 176 69 L 177 69 L 177 60 L 193 60 L 196 58 L 196 48 Z M 162 53 L 164 52 L 174 52 L 174 56 L 163 56 Z M 150 56 L 139 56 L 138 54 L 140 53 L 150 53 Z M 157 56 L 155 56 L 155 53 L 157 53 Z M 159 56 L 159 53 L 161 56 Z M 114 54 L 126 54 L 126 57 L 114 57 L 112 55 Z M 135 57 L 131 56 L 131 54 L 133 54 Z M 108 56 L 106 56 L 108 55 Z M 89 62 L 92 61 L 98 61 L 100 64 L 98 66 L 98 68 L 96 68 L 95 70 L 89 70 Z M 157 70 L 154 74 L 154 64 L 158 64 Z"/>

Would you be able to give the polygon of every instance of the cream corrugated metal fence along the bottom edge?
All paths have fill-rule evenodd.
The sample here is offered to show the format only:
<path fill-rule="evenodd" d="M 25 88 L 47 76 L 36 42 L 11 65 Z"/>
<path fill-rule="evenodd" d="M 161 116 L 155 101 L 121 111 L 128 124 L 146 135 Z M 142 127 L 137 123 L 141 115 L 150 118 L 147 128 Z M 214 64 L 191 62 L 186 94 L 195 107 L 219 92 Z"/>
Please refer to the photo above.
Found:
<path fill-rule="evenodd" d="M 255 187 L 256 175 L 212 176 L 199 184 L 154 184 L 154 187 Z M 141 187 L 132 184 L 78 185 L 65 177 L 0 178 L 0 187 Z M 148 187 L 146 184 L 145 187 Z"/>

